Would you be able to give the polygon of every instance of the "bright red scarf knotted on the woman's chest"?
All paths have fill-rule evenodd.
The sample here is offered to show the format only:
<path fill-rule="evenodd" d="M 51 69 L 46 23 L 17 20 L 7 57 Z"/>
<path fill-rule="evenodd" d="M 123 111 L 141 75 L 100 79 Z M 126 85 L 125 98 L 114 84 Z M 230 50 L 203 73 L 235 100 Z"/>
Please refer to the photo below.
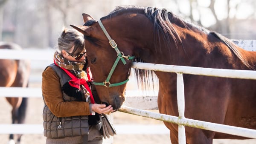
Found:
<path fill-rule="evenodd" d="M 54 60 L 54 63 L 55 63 L 56 66 L 58 66 L 57 63 L 55 62 L 55 60 Z M 90 70 L 89 70 L 89 69 L 86 69 L 86 71 L 87 71 L 87 78 L 88 78 L 88 81 L 86 81 L 84 78 L 77 78 L 77 77 L 76 77 L 75 75 L 73 75 L 69 70 L 64 69 L 64 68 L 62 68 L 62 67 L 60 67 L 60 68 L 63 69 L 64 72 L 66 72 L 67 75 L 70 76 L 70 78 L 72 78 L 72 79 L 68 82 L 68 83 L 70 84 L 70 86 L 73 86 L 73 87 L 75 87 L 75 88 L 77 88 L 77 89 L 80 90 L 80 84 L 82 84 L 82 85 L 85 87 L 85 89 L 90 93 L 90 101 L 91 101 L 91 103 L 92 103 L 92 104 L 95 104 L 95 101 L 94 101 L 94 98 L 93 98 L 93 94 L 92 94 L 92 92 L 91 92 L 91 90 L 90 90 L 90 87 L 89 87 L 88 84 L 87 84 L 87 82 L 90 82 L 90 81 L 91 81 L 91 78 L 90 78 L 90 75 L 89 75 Z"/>

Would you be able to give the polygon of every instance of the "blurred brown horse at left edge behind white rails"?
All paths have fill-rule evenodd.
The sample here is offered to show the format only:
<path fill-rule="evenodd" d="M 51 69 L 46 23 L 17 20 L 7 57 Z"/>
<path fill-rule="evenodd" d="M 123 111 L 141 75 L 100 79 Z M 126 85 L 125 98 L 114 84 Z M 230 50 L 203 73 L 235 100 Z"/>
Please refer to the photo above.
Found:
<path fill-rule="evenodd" d="M 17 49 L 21 47 L 15 43 L 0 42 L 0 49 Z M 30 74 L 30 62 L 27 60 L 0 59 L 0 86 L 28 87 Z M 27 109 L 27 98 L 6 98 L 12 105 L 12 124 L 23 124 Z M 3 116 L 3 115 L 2 115 Z M 14 135 L 10 134 L 10 141 L 14 141 Z M 20 142 L 18 135 L 17 142 Z"/>

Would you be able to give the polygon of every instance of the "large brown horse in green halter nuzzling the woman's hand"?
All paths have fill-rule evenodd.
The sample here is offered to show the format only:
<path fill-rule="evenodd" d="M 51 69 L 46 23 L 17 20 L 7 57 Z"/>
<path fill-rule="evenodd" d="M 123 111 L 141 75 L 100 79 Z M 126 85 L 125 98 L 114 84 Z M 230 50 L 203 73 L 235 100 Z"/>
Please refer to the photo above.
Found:
<path fill-rule="evenodd" d="M 93 22 L 90 15 L 83 14 L 83 17 L 85 23 Z M 110 36 L 103 32 L 101 23 Z M 122 59 L 123 54 L 124 58 L 135 56 L 135 61 L 145 63 L 256 69 L 256 52 L 245 51 L 226 37 L 187 22 L 166 9 L 117 7 L 90 26 L 73 27 L 84 34 L 87 60 L 99 98 L 114 109 L 119 109 L 125 101 L 124 83 L 132 64 L 131 60 L 125 60 L 126 64 L 116 60 Z M 116 44 L 119 51 L 115 51 Z M 117 65 L 113 66 L 115 60 Z M 159 79 L 160 113 L 178 116 L 177 74 L 154 73 Z M 142 70 L 137 74 L 141 82 L 151 77 Z M 256 129 L 256 81 L 185 74 L 183 81 L 186 118 Z M 164 124 L 170 130 L 172 144 L 178 144 L 177 124 Z M 212 144 L 213 138 L 246 139 L 192 127 L 185 130 L 187 144 Z"/>

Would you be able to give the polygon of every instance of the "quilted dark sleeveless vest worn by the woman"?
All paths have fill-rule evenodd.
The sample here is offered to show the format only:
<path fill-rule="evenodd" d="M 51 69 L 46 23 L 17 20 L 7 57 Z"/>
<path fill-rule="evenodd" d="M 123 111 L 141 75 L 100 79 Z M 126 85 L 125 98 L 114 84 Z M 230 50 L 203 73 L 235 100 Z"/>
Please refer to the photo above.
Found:
<path fill-rule="evenodd" d="M 71 78 L 61 68 L 56 66 L 54 63 L 49 65 L 58 77 L 60 78 L 60 84 L 63 86 Z M 48 67 L 48 66 L 47 66 Z M 64 101 L 78 101 L 74 97 L 66 95 L 64 92 Z M 44 95 L 43 95 L 44 98 Z M 89 125 L 88 116 L 72 116 L 72 117 L 56 117 L 52 114 L 50 109 L 44 102 L 43 110 L 44 119 L 44 136 L 47 138 L 64 138 L 70 136 L 88 135 Z"/>

